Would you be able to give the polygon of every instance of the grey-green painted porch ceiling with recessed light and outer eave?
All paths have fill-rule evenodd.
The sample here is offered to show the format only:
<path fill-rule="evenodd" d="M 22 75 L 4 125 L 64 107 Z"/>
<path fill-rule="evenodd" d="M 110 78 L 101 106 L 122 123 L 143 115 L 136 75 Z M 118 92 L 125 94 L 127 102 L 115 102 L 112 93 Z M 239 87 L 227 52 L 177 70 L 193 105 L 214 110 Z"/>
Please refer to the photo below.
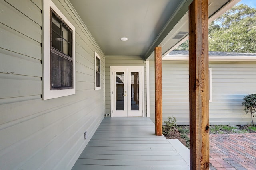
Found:
<path fill-rule="evenodd" d="M 70 0 L 105 55 L 152 57 L 154 47 L 165 55 L 188 32 L 188 6 L 192 0 Z M 209 16 L 227 3 L 209 0 Z M 230 8 L 230 7 L 229 7 Z M 120 38 L 127 37 L 128 41 Z"/>

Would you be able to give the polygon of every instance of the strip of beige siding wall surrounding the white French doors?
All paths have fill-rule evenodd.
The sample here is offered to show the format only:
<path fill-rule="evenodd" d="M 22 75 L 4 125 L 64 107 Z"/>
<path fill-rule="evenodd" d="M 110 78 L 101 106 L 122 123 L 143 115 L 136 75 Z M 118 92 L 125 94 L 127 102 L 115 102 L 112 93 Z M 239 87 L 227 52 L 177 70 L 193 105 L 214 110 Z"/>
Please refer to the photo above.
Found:
<path fill-rule="evenodd" d="M 105 86 L 106 86 L 106 114 L 110 115 L 110 66 L 144 66 L 144 105 L 145 111 L 143 111 L 145 117 L 147 117 L 146 110 L 146 61 L 142 57 L 134 56 L 106 56 L 105 59 Z"/>

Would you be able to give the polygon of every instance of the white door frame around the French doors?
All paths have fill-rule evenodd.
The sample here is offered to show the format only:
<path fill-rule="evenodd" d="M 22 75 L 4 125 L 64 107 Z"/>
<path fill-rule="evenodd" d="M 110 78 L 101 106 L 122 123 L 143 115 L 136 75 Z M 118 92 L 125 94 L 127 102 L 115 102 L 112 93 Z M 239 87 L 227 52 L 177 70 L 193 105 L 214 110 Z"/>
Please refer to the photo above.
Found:
<path fill-rule="evenodd" d="M 142 69 L 142 117 L 145 117 L 145 76 L 144 76 L 144 66 L 110 66 L 110 117 L 113 117 L 113 111 L 114 111 L 114 102 L 115 102 L 115 98 L 114 98 L 114 91 L 115 89 L 113 89 L 113 78 L 114 74 L 113 74 L 113 69 L 116 68 L 123 68 L 123 69 L 127 69 L 127 68 L 140 68 Z"/>

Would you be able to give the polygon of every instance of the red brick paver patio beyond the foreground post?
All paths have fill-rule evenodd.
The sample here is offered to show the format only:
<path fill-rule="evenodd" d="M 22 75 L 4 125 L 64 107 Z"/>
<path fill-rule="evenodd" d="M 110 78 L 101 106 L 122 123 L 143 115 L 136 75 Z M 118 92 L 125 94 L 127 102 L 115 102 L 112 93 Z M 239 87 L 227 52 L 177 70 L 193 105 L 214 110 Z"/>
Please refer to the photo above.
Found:
<path fill-rule="evenodd" d="M 256 133 L 210 135 L 211 170 L 256 170 Z"/>

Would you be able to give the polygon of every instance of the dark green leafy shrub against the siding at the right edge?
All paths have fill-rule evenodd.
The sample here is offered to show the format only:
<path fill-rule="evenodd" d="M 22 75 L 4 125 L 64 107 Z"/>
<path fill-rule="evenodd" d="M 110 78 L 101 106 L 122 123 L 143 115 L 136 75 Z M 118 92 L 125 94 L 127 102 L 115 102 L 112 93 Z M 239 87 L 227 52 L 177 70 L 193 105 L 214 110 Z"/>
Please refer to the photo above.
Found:
<path fill-rule="evenodd" d="M 244 112 L 251 113 L 252 118 L 252 124 L 253 123 L 253 117 L 256 117 L 256 94 L 249 94 L 244 96 L 244 102 L 242 102 L 242 105 L 244 106 Z"/>

